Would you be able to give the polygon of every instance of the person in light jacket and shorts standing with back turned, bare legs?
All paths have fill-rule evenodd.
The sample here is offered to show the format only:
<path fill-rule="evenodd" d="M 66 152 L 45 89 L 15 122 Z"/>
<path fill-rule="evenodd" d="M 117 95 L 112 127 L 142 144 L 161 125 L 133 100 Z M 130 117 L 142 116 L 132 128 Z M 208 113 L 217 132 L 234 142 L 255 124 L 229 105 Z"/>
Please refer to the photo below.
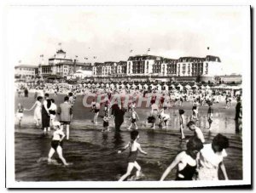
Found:
<path fill-rule="evenodd" d="M 68 96 L 64 98 L 64 103 L 61 103 L 58 114 L 60 115 L 61 130 L 63 126 L 66 125 L 67 139 L 69 139 L 69 125 L 72 118 L 72 106 L 68 103 Z"/>

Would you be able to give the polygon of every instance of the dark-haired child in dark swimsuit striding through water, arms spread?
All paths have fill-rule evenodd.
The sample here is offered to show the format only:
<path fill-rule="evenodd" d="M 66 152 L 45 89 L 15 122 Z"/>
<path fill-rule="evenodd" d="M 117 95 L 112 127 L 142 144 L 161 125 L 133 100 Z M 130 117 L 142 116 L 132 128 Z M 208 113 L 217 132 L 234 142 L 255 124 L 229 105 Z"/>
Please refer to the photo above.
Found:
<path fill-rule="evenodd" d="M 137 168 L 136 177 L 139 178 L 141 167 L 136 162 L 137 159 L 137 153 L 138 150 L 142 152 L 144 155 L 147 155 L 147 152 L 143 151 L 141 148 L 141 145 L 137 143 L 137 140 L 139 139 L 139 133 L 138 131 L 134 130 L 131 131 L 131 141 L 125 145 L 125 148 L 123 150 L 119 150 L 118 153 L 121 153 L 122 151 L 126 150 L 128 147 L 130 147 L 130 154 L 128 156 L 128 167 L 126 173 L 119 179 L 119 181 L 124 181 L 129 175 L 131 175 L 131 171 L 133 167 Z"/>

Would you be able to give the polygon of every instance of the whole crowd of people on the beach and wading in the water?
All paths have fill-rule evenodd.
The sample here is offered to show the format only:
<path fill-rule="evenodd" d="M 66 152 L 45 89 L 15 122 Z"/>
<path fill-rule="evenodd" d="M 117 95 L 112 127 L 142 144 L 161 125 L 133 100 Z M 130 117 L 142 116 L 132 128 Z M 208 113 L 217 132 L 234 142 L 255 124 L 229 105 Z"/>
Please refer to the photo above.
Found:
<path fill-rule="evenodd" d="M 70 138 L 70 122 L 73 119 L 73 105 L 76 101 L 77 94 L 96 94 L 95 99 L 92 100 L 90 107 L 93 113 L 94 118 L 93 123 L 97 124 L 99 111 L 103 105 L 103 125 L 102 132 L 110 132 L 109 121 L 114 120 L 114 129 L 115 132 L 119 132 L 124 122 L 125 113 L 130 114 L 131 125 L 127 128 L 131 131 L 131 141 L 125 145 L 124 149 L 118 150 L 118 153 L 122 153 L 126 149 L 130 149 L 130 154 L 128 156 L 128 167 L 126 173 L 119 179 L 119 181 L 127 179 L 131 175 L 133 167 L 137 168 L 136 178 L 140 178 L 141 167 L 137 163 L 137 154 L 138 152 L 148 155 L 148 153 L 142 150 L 141 145 L 138 142 L 140 137 L 139 128 L 137 121 L 139 116 L 137 114 L 137 95 L 142 97 L 150 97 L 150 116 L 148 116 L 148 123 L 152 124 L 152 129 L 155 129 L 156 122 L 159 122 L 159 128 L 167 128 L 167 122 L 170 121 L 170 115 L 166 112 L 166 109 L 170 108 L 171 102 L 174 102 L 174 105 L 180 106 L 178 110 L 179 116 L 179 126 L 181 139 L 186 140 L 187 150 L 183 150 L 173 160 L 171 165 L 166 168 L 166 171 L 162 174 L 160 180 L 166 179 L 167 175 L 172 172 L 174 167 L 177 167 L 177 176 L 176 180 L 215 180 L 218 179 L 218 167 L 224 173 L 224 179 L 229 179 L 228 174 L 226 173 L 223 159 L 227 156 L 225 151 L 229 147 L 229 139 L 224 135 L 218 133 L 214 139 L 212 139 L 211 144 L 206 144 L 204 134 L 201 131 L 201 128 L 196 126 L 196 122 L 199 120 L 198 111 L 199 107 L 203 105 L 208 106 L 207 111 L 207 120 L 209 123 L 209 130 L 211 129 L 213 122 L 213 108 L 212 105 L 219 103 L 221 100 L 225 101 L 225 108 L 230 108 L 232 100 L 237 100 L 236 105 L 236 129 L 241 130 L 241 95 L 232 96 L 230 92 L 223 91 L 214 91 L 212 90 L 203 90 L 203 89 L 172 89 L 172 90 L 159 90 L 157 89 L 134 89 L 134 88 L 111 88 L 109 85 L 106 88 L 101 88 L 102 85 L 90 84 L 90 87 L 87 85 L 79 84 L 73 86 L 65 86 L 64 84 L 52 84 L 45 86 L 30 86 L 30 87 L 20 87 L 17 89 L 18 96 L 20 97 L 20 91 L 24 91 L 24 96 L 28 94 L 28 90 L 33 90 L 34 98 L 36 99 L 34 105 L 31 108 L 26 109 L 23 105 L 18 104 L 17 108 L 17 117 L 19 124 L 23 117 L 23 111 L 32 111 L 34 109 L 34 120 L 35 124 L 39 126 L 40 122 L 44 133 L 47 133 L 54 128 L 53 139 L 51 142 L 51 148 L 49 150 L 49 162 L 51 162 L 51 157 L 57 152 L 61 161 L 64 165 L 68 165 L 66 159 L 62 155 L 62 143 L 63 140 Z M 25 94 L 27 90 L 27 94 Z M 55 105 L 55 99 L 49 99 L 49 92 L 57 95 L 60 93 L 67 94 L 64 97 L 63 103 L 57 106 Z M 105 94 L 105 100 L 98 101 L 97 96 L 100 94 Z M 132 99 L 131 103 L 125 104 L 124 101 L 119 101 L 117 99 L 113 100 L 114 94 L 131 94 L 135 96 Z M 157 101 L 157 100 L 160 101 Z M 190 101 L 192 112 L 190 116 L 190 121 L 185 122 L 184 119 L 184 110 L 183 102 Z M 56 118 L 58 114 L 58 120 Z M 193 132 L 193 137 L 185 138 L 183 133 L 183 128 L 185 125 Z M 66 127 L 66 134 L 63 132 L 64 126 Z M 150 153 L 149 153 L 150 154 Z"/>

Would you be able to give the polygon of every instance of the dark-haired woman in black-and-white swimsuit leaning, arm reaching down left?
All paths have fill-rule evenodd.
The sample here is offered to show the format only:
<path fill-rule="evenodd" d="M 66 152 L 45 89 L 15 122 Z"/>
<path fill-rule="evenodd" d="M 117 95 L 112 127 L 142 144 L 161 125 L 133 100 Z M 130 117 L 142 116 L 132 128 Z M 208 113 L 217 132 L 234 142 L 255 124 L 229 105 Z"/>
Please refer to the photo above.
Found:
<path fill-rule="evenodd" d="M 179 153 L 169 167 L 166 168 L 160 181 L 166 179 L 167 175 L 171 173 L 172 169 L 177 166 L 176 180 L 192 180 L 196 173 L 196 158 L 198 152 L 203 148 L 200 139 L 193 137 L 187 143 L 187 150 Z"/>

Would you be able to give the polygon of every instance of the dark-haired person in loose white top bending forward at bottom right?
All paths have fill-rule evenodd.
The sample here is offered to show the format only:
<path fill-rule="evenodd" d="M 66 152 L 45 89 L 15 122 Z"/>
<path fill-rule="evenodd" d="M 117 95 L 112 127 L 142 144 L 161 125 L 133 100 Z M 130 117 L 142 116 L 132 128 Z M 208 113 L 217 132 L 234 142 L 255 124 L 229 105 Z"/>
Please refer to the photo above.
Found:
<path fill-rule="evenodd" d="M 229 146 L 229 139 L 219 133 L 212 139 L 212 144 L 204 145 L 198 160 L 199 180 L 218 180 L 218 167 L 224 179 L 229 179 L 223 162 L 224 157 L 228 156 L 225 149 Z"/>

